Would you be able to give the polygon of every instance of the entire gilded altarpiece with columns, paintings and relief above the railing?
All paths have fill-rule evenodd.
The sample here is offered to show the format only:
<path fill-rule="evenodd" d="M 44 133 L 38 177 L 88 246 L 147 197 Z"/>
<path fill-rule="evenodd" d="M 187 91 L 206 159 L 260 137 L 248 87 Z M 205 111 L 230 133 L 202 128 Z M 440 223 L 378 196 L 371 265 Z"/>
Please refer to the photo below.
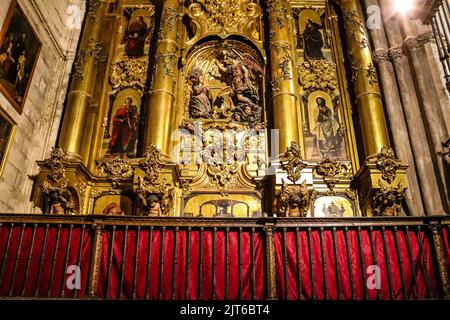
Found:
<path fill-rule="evenodd" d="M 405 166 L 388 146 L 377 165 L 360 159 L 353 87 L 378 80 L 358 60 L 370 53 L 359 4 L 339 5 L 91 0 L 36 204 L 153 217 L 397 214 Z"/>

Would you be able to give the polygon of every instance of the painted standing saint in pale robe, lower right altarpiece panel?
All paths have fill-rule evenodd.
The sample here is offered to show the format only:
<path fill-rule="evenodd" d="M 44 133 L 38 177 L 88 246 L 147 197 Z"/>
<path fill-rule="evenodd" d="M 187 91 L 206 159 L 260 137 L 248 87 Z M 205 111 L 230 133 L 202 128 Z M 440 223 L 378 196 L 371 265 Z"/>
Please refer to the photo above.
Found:
<path fill-rule="evenodd" d="M 339 122 L 336 121 L 324 98 L 317 98 L 316 103 L 319 113 L 312 131 L 316 136 L 317 147 L 323 157 L 336 157 L 342 146 Z"/>

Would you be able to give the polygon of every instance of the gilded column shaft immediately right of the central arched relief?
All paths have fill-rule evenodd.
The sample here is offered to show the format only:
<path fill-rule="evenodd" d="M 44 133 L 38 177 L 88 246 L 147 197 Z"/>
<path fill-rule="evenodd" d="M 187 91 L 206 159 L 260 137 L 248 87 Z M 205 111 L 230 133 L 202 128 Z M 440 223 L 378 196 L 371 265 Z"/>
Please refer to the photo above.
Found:
<path fill-rule="evenodd" d="M 297 95 L 293 62 L 292 37 L 288 17 L 291 8 L 286 1 L 268 1 L 270 28 L 270 61 L 274 128 L 279 130 L 279 151 L 292 142 L 299 143 Z"/>

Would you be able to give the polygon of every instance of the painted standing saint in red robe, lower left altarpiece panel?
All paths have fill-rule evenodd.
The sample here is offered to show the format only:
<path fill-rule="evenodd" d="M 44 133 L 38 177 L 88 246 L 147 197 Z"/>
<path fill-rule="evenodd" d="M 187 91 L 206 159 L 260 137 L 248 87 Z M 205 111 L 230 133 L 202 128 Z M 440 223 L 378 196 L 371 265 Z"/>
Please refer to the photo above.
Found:
<path fill-rule="evenodd" d="M 138 108 L 127 97 L 112 119 L 112 134 L 107 156 L 134 156 L 138 137 Z"/>

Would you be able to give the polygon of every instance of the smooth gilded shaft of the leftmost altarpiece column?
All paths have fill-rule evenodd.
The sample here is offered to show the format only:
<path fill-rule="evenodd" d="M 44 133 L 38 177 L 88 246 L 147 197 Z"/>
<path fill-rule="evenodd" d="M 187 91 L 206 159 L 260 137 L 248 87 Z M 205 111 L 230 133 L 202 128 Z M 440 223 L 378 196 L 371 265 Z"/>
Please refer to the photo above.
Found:
<path fill-rule="evenodd" d="M 104 0 L 91 0 L 89 3 L 59 139 L 59 146 L 67 151 L 68 156 L 82 160 L 84 164 L 87 164 L 91 148 L 90 135 L 86 134 L 86 122 L 93 100 L 97 64 L 102 55 L 100 38 L 106 8 Z"/>

